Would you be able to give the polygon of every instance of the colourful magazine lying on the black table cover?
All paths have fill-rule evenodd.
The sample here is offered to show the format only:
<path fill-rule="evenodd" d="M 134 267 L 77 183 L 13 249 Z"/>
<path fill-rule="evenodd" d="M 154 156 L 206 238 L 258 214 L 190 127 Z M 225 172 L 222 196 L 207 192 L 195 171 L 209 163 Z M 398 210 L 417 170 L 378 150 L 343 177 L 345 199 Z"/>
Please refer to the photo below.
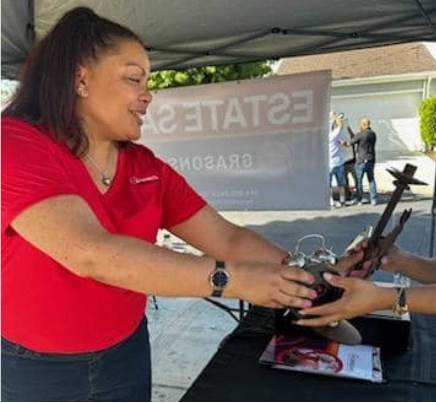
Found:
<path fill-rule="evenodd" d="M 261 364 L 297 372 L 381 383 L 380 348 L 346 345 L 326 338 L 275 335 L 259 358 Z"/>

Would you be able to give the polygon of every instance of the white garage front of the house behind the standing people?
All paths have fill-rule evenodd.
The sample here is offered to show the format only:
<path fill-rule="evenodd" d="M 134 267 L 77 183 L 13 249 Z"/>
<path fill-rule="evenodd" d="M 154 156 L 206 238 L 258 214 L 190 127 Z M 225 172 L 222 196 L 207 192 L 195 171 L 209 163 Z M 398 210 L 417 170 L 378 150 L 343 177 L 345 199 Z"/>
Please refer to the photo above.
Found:
<path fill-rule="evenodd" d="M 418 106 L 435 95 L 435 73 L 337 80 L 332 85 L 332 109 L 343 112 L 358 131 L 368 116 L 378 135 L 378 153 L 423 150 Z"/>

